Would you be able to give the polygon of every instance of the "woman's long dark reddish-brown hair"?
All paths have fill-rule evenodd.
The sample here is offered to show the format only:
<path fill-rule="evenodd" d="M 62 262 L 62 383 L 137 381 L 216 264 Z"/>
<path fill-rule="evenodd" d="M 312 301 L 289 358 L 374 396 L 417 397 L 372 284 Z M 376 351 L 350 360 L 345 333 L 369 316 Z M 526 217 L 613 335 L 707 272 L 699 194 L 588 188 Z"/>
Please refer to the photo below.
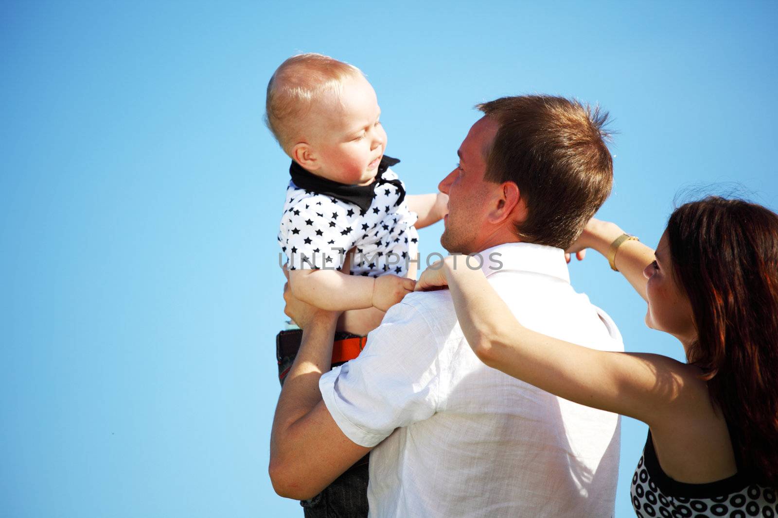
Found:
<path fill-rule="evenodd" d="M 727 419 L 738 469 L 778 487 L 778 214 L 710 196 L 678 207 L 667 233 L 697 329 L 689 361 Z"/>

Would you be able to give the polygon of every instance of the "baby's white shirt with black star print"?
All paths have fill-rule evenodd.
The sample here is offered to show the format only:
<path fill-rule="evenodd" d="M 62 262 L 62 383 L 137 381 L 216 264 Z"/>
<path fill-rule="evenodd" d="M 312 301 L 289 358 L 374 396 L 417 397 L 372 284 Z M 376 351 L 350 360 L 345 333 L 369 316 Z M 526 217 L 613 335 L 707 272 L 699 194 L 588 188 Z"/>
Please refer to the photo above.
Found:
<path fill-rule="evenodd" d="M 396 162 L 396 161 L 395 161 Z M 403 200 L 405 186 L 391 170 L 381 172 L 370 207 L 335 196 L 301 189 L 293 181 L 286 189 L 279 245 L 289 269 L 340 269 L 345 254 L 356 247 L 351 274 L 405 276 L 409 260 L 418 260 L 417 215 Z M 400 183 L 403 189 L 398 189 Z M 401 203 L 397 204 L 398 200 Z"/>

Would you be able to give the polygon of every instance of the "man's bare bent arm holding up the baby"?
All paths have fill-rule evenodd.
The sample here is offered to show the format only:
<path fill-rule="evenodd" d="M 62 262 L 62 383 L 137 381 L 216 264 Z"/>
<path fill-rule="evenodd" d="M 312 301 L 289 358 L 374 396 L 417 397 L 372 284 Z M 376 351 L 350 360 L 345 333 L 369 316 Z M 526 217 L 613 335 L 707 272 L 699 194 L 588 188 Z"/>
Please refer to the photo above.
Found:
<path fill-rule="evenodd" d="M 275 408 L 270 479 L 275 492 L 287 498 L 313 498 L 371 450 L 349 440 L 321 401 L 319 378 L 330 367 L 336 320 L 335 314 L 317 311 L 304 323 L 300 351 Z"/>

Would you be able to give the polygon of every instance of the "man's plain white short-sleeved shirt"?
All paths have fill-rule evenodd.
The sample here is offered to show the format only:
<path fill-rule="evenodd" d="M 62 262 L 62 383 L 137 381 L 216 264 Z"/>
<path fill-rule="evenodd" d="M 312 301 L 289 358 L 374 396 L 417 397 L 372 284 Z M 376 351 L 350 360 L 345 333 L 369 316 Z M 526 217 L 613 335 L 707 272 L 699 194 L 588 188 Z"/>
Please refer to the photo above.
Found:
<path fill-rule="evenodd" d="M 562 250 L 509 243 L 482 257 L 492 258 L 482 269 L 523 325 L 623 350 L 608 315 L 570 286 Z M 359 357 L 319 387 L 343 433 L 377 445 L 370 516 L 613 515 L 619 415 L 486 367 L 448 290 L 409 294 L 390 308 Z"/>

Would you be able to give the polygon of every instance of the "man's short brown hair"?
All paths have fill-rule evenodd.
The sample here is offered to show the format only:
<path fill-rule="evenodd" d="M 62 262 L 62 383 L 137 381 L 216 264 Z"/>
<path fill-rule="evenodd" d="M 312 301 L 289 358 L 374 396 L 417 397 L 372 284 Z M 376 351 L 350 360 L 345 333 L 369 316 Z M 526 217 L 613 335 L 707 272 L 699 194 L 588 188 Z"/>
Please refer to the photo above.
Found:
<path fill-rule="evenodd" d="M 499 124 L 484 178 L 516 183 L 527 206 L 517 236 L 572 245 L 611 193 L 608 113 L 557 96 L 503 97 L 476 108 Z"/>

